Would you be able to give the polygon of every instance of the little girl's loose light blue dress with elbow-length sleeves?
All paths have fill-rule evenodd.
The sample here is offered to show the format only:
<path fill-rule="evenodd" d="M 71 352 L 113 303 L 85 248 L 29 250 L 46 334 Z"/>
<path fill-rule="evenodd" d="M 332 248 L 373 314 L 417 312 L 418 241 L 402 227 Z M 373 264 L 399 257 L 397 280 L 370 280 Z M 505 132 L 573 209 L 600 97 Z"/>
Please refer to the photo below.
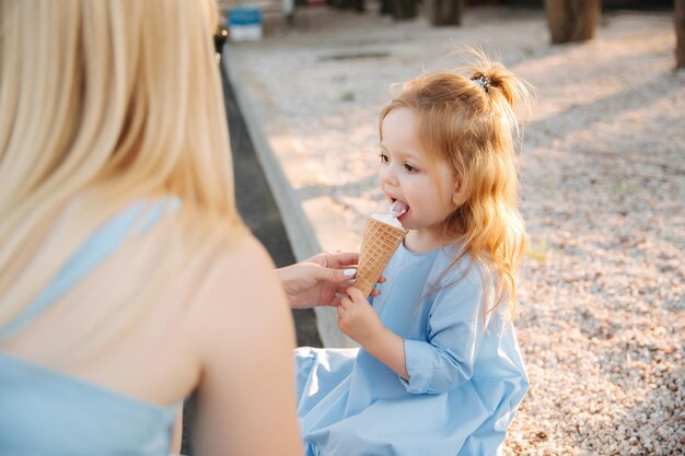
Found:
<path fill-rule="evenodd" d="M 506 309 L 486 321 L 494 285 L 477 264 L 465 256 L 443 274 L 457 255 L 400 245 L 383 272 L 372 305 L 405 339 L 408 382 L 363 348 L 295 350 L 307 456 L 500 454 L 527 376 Z"/>

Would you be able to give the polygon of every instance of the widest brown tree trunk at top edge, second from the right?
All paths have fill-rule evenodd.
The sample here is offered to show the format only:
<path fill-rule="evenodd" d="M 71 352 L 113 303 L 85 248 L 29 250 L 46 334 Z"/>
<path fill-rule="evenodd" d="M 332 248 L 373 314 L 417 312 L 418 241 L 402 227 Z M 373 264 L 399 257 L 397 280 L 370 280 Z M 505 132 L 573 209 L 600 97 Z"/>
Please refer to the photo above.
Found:
<path fill-rule="evenodd" d="M 545 9 L 553 44 L 594 38 L 602 14 L 601 0 L 545 0 Z"/>

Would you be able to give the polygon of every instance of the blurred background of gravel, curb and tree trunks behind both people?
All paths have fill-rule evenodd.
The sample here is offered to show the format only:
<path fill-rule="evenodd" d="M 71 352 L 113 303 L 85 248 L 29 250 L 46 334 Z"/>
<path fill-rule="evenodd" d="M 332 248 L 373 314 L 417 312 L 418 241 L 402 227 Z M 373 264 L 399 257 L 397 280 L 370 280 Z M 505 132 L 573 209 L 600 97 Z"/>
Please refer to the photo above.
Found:
<path fill-rule="evenodd" d="M 279 265 L 356 249 L 393 84 L 480 47 L 529 81 L 531 390 L 507 455 L 685 448 L 685 2 L 220 1 L 239 202 Z M 325 311 L 300 344 L 347 346 Z M 191 448 L 185 445 L 185 452 Z"/>

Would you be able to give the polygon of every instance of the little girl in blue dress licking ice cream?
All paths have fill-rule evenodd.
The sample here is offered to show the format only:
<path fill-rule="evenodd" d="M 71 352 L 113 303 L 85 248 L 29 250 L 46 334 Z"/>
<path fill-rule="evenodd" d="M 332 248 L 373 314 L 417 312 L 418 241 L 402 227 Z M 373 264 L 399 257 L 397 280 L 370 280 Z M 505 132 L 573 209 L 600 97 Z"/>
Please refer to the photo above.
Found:
<path fill-rule="evenodd" d="M 529 385 L 511 323 L 527 92 L 483 56 L 469 70 L 409 81 L 381 112 L 379 184 L 409 232 L 371 305 L 350 288 L 338 307 L 361 348 L 295 351 L 306 455 L 501 452 Z"/>

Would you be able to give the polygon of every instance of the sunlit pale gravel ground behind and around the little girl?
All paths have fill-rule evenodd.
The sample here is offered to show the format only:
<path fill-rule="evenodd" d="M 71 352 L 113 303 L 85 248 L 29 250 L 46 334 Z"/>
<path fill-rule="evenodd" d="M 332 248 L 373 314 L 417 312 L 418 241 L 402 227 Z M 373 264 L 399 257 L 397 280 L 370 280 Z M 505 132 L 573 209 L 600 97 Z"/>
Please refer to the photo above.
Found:
<path fill-rule="evenodd" d="M 506 455 L 685 454 L 685 71 L 670 12 L 612 12 L 552 47 L 537 10 L 467 10 L 461 27 L 299 13 L 248 56 L 303 162 L 303 187 L 348 229 L 384 208 L 376 118 L 390 85 L 478 45 L 539 96 L 522 153 L 530 249 L 518 331 L 531 389 Z"/>

